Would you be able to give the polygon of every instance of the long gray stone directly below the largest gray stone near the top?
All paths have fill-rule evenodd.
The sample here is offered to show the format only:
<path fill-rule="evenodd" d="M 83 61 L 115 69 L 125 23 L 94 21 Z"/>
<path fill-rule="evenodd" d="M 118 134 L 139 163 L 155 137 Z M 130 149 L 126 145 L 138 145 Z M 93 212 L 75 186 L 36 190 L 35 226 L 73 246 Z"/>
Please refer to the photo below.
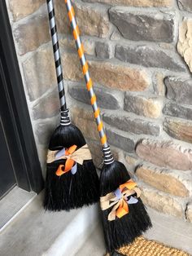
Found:
<path fill-rule="evenodd" d="M 149 46 L 116 46 L 115 56 L 118 60 L 131 64 L 185 71 L 185 66 L 181 64 L 178 55 L 172 57 L 165 51 L 156 50 Z"/>

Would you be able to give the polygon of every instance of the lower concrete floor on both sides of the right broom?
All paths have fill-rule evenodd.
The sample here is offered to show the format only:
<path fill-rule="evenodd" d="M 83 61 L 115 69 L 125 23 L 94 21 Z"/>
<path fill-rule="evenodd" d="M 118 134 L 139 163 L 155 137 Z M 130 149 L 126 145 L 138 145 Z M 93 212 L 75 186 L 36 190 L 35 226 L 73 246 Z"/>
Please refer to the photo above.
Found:
<path fill-rule="evenodd" d="M 191 223 L 185 223 L 181 219 L 159 214 L 152 209 L 148 209 L 148 213 L 151 216 L 153 227 L 144 235 L 146 238 L 182 249 L 192 255 Z M 98 225 L 75 256 L 103 256 L 104 254 L 103 231 Z"/>

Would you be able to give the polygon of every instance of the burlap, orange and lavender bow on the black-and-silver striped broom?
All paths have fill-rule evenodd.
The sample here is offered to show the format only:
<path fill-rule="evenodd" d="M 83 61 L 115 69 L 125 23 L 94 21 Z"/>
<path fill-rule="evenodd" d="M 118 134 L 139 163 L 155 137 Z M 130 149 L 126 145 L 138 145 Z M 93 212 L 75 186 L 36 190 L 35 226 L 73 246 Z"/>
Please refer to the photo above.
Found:
<path fill-rule="evenodd" d="M 47 163 L 57 161 L 60 159 L 66 159 L 65 165 L 59 165 L 56 175 L 61 176 L 71 170 L 72 174 L 76 174 L 77 165 L 82 165 L 84 160 L 92 159 L 88 145 L 85 144 L 83 147 L 77 149 L 76 145 L 72 145 L 70 148 L 63 148 L 60 151 L 48 150 Z"/>

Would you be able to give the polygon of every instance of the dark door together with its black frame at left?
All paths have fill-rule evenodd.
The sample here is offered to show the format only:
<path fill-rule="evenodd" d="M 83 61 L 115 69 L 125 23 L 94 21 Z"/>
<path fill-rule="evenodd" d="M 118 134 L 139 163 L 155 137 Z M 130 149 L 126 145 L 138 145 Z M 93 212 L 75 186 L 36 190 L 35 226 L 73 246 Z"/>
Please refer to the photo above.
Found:
<path fill-rule="evenodd" d="M 0 197 L 14 186 L 40 192 L 41 166 L 4 0 L 0 2 Z"/>

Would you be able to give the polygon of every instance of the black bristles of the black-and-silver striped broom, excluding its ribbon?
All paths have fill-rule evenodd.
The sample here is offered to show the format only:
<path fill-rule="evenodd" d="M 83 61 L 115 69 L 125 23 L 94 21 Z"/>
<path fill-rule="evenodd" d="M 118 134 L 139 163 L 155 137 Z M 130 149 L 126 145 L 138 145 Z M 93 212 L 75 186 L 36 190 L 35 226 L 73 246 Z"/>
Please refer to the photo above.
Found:
<path fill-rule="evenodd" d="M 50 139 L 50 150 L 69 148 L 72 145 L 81 148 L 85 139 L 76 126 L 59 126 Z M 54 161 L 47 164 L 46 192 L 44 207 L 46 210 L 71 210 L 91 205 L 99 200 L 98 174 L 92 160 L 86 160 L 83 165 L 77 164 L 76 174 L 69 171 L 57 176 L 59 165 L 66 160 Z"/>

